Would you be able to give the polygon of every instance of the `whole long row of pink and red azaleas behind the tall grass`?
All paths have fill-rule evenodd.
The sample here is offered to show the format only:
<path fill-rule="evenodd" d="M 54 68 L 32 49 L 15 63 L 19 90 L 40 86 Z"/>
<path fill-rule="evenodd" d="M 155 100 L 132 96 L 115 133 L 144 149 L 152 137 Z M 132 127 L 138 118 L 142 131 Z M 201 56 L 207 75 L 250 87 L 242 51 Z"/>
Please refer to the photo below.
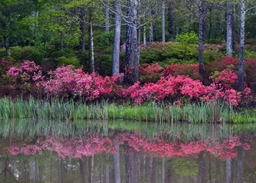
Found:
<path fill-rule="evenodd" d="M 158 64 L 144 64 L 140 67 L 140 74 L 148 80 L 158 77 L 154 83 L 135 83 L 128 88 L 123 88 L 123 74 L 113 77 L 102 77 L 97 73 L 88 74 L 82 71 L 82 68 L 76 69 L 74 66 L 62 66 L 55 71 L 49 72 L 49 77 L 44 78 L 41 67 L 34 61 L 24 61 L 20 66 L 10 66 L 4 61 L 6 75 L 13 81 L 14 87 L 22 85 L 26 89 L 35 90 L 46 95 L 48 98 L 73 98 L 80 97 L 85 100 L 94 100 L 96 98 L 131 98 L 135 105 L 141 105 L 143 102 L 152 100 L 154 103 L 176 102 L 183 103 L 187 101 L 213 102 L 222 100 L 227 105 L 238 106 L 241 98 L 249 98 L 251 89 L 244 83 L 244 92 L 237 92 L 237 75 L 228 69 L 215 72 L 210 76 L 212 83 L 209 86 L 202 85 L 200 80 L 193 80 L 188 75 L 176 75 L 176 71 L 182 65 L 172 64 L 162 71 Z M 191 65 L 193 71 L 195 65 Z M 163 74 L 163 77 L 161 75 Z M 154 75 L 157 75 L 155 77 Z"/>

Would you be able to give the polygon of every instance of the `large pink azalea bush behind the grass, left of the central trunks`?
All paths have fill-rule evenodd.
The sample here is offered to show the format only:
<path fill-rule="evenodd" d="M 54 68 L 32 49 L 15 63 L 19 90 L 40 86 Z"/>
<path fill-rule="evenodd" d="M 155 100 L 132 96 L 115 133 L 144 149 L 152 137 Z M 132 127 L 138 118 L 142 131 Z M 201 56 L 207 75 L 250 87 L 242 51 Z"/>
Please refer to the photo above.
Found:
<path fill-rule="evenodd" d="M 74 66 L 62 66 L 49 74 L 49 80 L 43 85 L 49 97 L 79 95 L 87 100 L 93 100 L 101 95 L 115 95 L 119 92 L 119 86 L 115 84 L 117 76 L 103 78 L 96 73 L 84 73 L 82 68 L 75 69 Z"/>

